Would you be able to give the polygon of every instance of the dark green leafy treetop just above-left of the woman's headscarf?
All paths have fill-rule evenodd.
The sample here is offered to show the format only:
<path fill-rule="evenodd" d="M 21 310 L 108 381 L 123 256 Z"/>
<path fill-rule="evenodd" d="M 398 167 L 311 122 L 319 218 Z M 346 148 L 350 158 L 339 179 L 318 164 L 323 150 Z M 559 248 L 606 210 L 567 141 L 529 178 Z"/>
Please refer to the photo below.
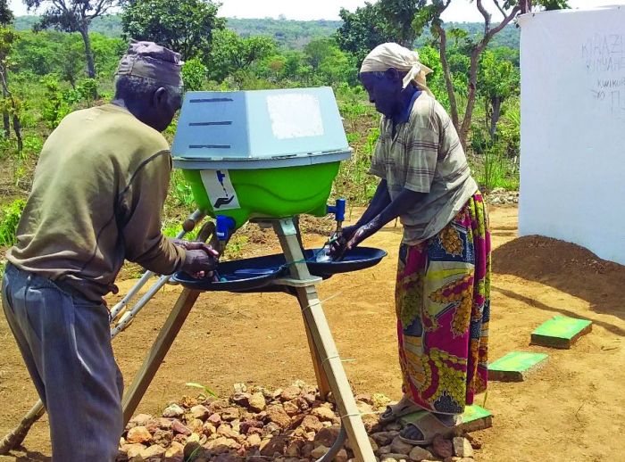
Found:
<path fill-rule="evenodd" d="M 338 46 L 341 50 L 354 54 L 358 64 L 373 48 L 394 40 L 395 36 L 387 27 L 379 3 L 365 2 L 355 12 L 341 8 L 338 14 L 343 20 L 343 25 L 335 34 Z"/>

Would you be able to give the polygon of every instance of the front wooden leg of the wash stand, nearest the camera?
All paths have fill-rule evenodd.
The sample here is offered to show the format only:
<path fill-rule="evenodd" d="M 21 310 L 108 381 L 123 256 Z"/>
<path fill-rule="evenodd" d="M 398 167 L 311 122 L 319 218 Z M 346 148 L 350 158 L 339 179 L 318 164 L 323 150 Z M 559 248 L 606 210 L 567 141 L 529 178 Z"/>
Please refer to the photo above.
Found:
<path fill-rule="evenodd" d="M 304 262 L 304 254 L 296 236 L 296 226 L 292 219 L 281 219 L 274 222 L 274 229 L 279 237 L 282 250 L 290 266 L 291 277 L 300 281 L 310 280 L 311 275 Z M 306 332 L 312 337 L 312 359 L 317 369 L 323 370 L 323 375 L 329 384 L 336 401 L 347 436 L 352 441 L 354 456 L 360 462 L 373 462 L 375 456 L 371 450 L 369 436 L 362 424 L 362 418 L 354 393 L 352 392 L 343 363 L 338 356 L 337 346 L 329 330 L 328 320 L 323 313 L 321 301 L 314 284 L 296 287 L 297 300 L 302 307 Z M 319 361 L 321 360 L 321 367 Z M 319 375 L 318 375 L 319 379 Z M 321 389 L 321 383 L 320 383 Z"/>

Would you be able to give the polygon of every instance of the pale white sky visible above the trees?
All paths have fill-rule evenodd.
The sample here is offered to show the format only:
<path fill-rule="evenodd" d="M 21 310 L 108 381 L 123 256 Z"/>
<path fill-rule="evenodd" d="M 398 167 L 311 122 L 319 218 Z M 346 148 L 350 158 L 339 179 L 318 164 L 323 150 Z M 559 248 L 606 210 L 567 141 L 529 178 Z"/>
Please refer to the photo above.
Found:
<path fill-rule="evenodd" d="M 354 11 L 362 6 L 365 0 L 221 0 L 220 16 L 227 18 L 278 18 L 283 14 L 289 20 L 338 20 L 338 11 L 344 7 Z M 501 15 L 495 14 L 496 9 L 492 0 L 485 0 L 490 4 L 493 20 Z M 625 0 L 569 0 L 572 8 L 592 8 L 611 4 L 625 4 Z M 11 8 L 16 15 L 26 14 L 26 7 L 21 0 L 11 0 Z M 443 15 L 444 21 L 473 22 L 481 21 L 475 3 L 469 0 L 454 0 Z"/>

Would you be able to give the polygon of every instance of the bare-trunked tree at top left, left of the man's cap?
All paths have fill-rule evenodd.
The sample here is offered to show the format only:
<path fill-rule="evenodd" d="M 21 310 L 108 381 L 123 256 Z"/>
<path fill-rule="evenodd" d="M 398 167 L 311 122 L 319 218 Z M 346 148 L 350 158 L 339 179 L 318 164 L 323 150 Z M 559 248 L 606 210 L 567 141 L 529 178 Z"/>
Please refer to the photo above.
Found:
<path fill-rule="evenodd" d="M 96 65 L 91 49 L 89 26 L 91 21 L 104 16 L 119 0 L 23 0 L 29 11 L 45 7 L 40 20 L 35 24 L 35 30 L 54 28 L 65 32 L 79 32 L 85 43 L 85 59 L 87 61 L 87 75 L 96 77 Z"/>

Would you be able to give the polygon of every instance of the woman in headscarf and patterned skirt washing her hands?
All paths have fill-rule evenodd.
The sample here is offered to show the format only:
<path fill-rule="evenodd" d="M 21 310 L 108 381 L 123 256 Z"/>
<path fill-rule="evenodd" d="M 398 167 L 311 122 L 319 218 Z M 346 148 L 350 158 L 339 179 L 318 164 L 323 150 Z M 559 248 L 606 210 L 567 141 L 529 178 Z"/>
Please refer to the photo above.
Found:
<path fill-rule="evenodd" d="M 352 249 L 397 217 L 404 225 L 396 282 L 404 398 L 380 420 L 427 410 L 400 433 L 412 444 L 451 433 L 487 386 L 487 210 L 454 124 L 426 86 L 429 72 L 397 44 L 379 45 L 362 62 L 362 85 L 382 114 L 371 159 L 381 181 L 332 249 Z"/>

